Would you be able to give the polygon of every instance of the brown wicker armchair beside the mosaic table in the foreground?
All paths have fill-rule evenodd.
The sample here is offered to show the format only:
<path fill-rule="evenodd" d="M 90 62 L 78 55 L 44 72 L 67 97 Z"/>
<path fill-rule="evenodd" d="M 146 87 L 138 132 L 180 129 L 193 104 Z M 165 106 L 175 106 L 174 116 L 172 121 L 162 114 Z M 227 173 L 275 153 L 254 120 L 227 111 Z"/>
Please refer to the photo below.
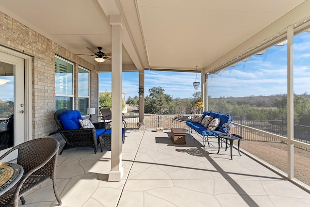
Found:
<path fill-rule="evenodd" d="M 21 143 L 4 155 L 18 149 L 17 164 L 24 168 L 24 175 L 9 191 L 0 196 L 0 206 L 18 206 L 18 198 L 25 204 L 23 195 L 38 187 L 43 182 L 52 179 L 53 189 L 59 205 L 62 201 L 58 196 L 55 181 L 56 162 L 59 143 L 53 138 L 39 138 Z"/>

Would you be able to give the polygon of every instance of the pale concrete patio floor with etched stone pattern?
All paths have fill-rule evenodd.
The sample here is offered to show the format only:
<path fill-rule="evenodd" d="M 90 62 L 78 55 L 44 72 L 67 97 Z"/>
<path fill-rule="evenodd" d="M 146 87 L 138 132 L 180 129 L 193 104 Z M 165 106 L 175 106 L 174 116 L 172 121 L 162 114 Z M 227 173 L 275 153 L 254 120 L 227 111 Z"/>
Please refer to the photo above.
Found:
<path fill-rule="evenodd" d="M 186 134 L 186 144 L 173 144 L 170 133 L 127 129 L 120 182 L 108 182 L 108 148 L 64 150 L 56 173 L 62 207 L 310 206 L 308 192 L 236 149 L 231 160 L 229 149 L 216 154 L 216 139 L 203 149 L 195 133 Z M 58 206 L 51 181 L 24 198 L 25 207 Z"/>

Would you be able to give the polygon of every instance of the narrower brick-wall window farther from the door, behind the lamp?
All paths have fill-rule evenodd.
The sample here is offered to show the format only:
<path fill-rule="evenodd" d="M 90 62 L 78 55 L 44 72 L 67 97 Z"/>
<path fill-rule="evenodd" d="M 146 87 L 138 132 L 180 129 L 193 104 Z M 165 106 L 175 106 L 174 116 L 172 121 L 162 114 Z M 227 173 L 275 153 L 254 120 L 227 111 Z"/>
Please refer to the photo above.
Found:
<path fill-rule="evenodd" d="M 86 115 L 89 107 L 89 71 L 78 67 L 78 111 Z"/>

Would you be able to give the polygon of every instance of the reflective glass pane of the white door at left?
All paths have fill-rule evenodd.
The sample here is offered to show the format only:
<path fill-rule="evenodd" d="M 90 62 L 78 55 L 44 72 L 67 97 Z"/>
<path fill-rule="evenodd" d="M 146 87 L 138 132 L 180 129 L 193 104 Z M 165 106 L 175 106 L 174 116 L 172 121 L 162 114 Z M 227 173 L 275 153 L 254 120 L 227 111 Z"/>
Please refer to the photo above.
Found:
<path fill-rule="evenodd" d="M 14 65 L 0 62 L 0 150 L 14 145 Z"/>

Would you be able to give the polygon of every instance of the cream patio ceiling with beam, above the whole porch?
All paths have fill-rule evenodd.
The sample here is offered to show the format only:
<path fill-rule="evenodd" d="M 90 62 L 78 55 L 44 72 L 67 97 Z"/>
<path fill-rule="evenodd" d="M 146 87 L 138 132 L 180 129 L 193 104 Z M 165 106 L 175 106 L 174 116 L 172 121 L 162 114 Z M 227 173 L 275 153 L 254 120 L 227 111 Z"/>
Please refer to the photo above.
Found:
<path fill-rule="evenodd" d="M 86 47 L 111 52 L 109 15 L 121 14 L 132 43 L 123 47 L 123 64 L 195 70 L 196 65 L 201 69 L 214 63 L 305 1 L 0 0 L 0 10 L 73 53 L 89 55 Z M 96 64 L 92 56 L 80 57 Z"/>

